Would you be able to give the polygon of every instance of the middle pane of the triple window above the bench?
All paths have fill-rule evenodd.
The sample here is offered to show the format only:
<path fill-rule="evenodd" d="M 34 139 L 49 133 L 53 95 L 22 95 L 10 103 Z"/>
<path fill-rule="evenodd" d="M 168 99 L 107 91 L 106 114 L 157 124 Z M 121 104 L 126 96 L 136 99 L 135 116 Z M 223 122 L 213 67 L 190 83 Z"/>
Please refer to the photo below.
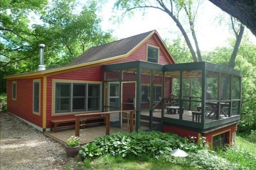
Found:
<path fill-rule="evenodd" d="M 86 84 L 73 84 L 73 111 L 86 111 Z"/>

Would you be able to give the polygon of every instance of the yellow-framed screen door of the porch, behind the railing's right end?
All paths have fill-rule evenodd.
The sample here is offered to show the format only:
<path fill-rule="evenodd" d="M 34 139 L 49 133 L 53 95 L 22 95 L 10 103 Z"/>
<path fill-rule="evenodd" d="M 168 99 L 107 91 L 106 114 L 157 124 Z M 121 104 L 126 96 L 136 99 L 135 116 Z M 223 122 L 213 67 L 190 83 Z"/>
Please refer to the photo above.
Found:
<path fill-rule="evenodd" d="M 136 81 L 122 82 L 121 111 L 136 109 Z M 134 114 L 134 130 L 136 114 Z M 121 128 L 129 130 L 130 113 L 121 113 Z"/>

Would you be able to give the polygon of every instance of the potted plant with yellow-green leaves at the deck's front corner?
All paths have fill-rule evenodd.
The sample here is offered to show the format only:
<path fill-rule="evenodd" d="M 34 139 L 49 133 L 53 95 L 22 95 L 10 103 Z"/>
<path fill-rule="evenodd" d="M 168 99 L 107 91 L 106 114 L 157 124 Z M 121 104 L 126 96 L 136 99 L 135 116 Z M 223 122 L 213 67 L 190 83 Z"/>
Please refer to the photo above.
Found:
<path fill-rule="evenodd" d="M 76 157 L 80 149 L 80 138 L 71 136 L 67 139 L 66 153 L 68 157 Z"/>

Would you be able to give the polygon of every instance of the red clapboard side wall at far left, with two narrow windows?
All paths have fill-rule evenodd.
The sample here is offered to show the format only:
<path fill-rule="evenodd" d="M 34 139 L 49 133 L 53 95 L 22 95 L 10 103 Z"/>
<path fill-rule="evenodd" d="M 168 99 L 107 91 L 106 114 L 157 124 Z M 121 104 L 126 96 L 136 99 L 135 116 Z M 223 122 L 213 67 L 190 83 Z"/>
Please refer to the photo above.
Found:
<path fill-rule="evenodd" d="M 33 79 L 13 79 L 7 81 L 7 111 L 22 119 L 25 119 L 39 127 L 42 127 L 43 114 L 43 78 L 41 79 L 40 113 L 33 114 Z M 12 100 L 12 82 L 16 81 L 17 96 Z"/>

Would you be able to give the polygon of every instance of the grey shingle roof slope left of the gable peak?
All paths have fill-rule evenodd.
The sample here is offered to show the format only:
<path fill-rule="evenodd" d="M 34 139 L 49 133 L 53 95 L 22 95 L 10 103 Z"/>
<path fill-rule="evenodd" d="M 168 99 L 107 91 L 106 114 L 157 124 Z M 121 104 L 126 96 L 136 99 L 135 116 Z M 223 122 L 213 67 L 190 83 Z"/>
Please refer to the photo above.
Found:
<path fill-rule="evenodd" d="M 92 62 L 96 60 L 125 55 L 141 41 L 143 41 L 153 31 L 148 31 L 143 34 L 134 35 L 132 37 L 128 37 L 122 40 L 92 47 L 85 51 L 83 54 L 81 54 L 81 56 L 74 59 L 68 65 L 75 65 L 79 63 Z"/>

